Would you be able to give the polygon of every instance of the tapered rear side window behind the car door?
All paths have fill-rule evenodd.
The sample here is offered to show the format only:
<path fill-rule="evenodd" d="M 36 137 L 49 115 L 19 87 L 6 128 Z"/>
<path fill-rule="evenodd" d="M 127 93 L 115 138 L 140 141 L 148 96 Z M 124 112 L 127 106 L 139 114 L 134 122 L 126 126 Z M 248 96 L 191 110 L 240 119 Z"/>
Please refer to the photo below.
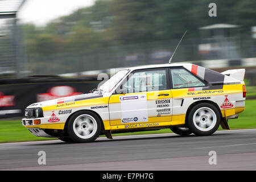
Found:
<path fill-rule="evenodd" d="M 189 73 L 183 68 L 171 69 L 172 88 L 189 88 L 196 86 L 204 86 L 197 77 Z"/>

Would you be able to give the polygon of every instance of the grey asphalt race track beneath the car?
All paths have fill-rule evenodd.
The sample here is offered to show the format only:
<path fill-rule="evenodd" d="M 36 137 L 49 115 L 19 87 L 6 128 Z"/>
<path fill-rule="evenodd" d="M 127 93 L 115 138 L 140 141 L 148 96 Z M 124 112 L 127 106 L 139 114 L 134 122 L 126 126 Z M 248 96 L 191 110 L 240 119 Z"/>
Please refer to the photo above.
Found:
<path fill-rule="evenodd" d="M 209 137 L 176 134 L 0 144 L 0 170 L 256 170 L 256 129 L 217 131 Z M 46 152 L 46 165 L 38 152 Z M 210 165 L 209 151 L 217 164 Z"/>

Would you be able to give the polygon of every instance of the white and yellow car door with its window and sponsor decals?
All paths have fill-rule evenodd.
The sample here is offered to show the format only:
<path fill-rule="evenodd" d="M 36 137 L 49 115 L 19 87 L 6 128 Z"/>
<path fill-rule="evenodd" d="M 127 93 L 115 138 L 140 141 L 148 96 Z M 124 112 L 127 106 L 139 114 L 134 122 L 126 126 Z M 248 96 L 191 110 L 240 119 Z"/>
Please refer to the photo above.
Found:
<path fill-rule="evenodd" d="M 171 121 L 172 96 L 168 74 L 167 68 L 131 72 L 119 85 L 121 89 L 110 96 L 110 125 Z"/>

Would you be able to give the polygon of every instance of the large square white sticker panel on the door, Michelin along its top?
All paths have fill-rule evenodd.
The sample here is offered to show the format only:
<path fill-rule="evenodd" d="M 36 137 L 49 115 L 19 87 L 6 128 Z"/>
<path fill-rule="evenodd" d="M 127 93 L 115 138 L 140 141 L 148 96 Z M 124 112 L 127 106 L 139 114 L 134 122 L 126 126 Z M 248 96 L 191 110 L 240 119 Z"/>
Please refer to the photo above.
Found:
<path fill-rule="evenodd" d="M 146 94 L 133 94 L 119 96 L 122 110 L 122 123 L 147 122 L 147 96 Z M 134 110 L 137 110 L 134 112 Z"/>

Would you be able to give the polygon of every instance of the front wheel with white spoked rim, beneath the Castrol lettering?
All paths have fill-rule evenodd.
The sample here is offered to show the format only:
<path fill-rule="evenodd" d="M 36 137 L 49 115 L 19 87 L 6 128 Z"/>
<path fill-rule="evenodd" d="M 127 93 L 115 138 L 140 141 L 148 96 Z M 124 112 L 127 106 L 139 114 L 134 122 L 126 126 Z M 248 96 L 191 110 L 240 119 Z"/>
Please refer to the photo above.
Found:
<path fill-rule="evenodd" d="M 69 119 L 67 131 L 74 142 L 93 142 L 101 133 L 101 120 L 91 111 L 78 111 Z"/>

